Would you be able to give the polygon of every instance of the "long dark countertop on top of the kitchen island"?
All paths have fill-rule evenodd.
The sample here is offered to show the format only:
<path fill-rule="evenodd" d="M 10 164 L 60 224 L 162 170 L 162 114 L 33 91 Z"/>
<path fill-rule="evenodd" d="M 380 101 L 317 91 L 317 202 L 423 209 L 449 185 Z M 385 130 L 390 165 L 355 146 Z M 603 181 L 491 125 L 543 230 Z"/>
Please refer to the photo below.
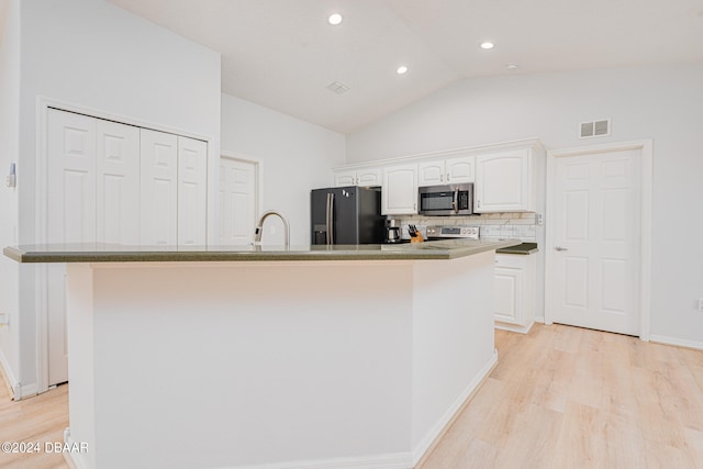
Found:
<path fill-rule="evenodd" d="M 123 246 L 100 243 L 9 246 L 18 263 L 172 263 L 258 260 L 455 259 L 518 245 L 518 239 L 444 239 L 411 244 L 336 246 Z"/>

